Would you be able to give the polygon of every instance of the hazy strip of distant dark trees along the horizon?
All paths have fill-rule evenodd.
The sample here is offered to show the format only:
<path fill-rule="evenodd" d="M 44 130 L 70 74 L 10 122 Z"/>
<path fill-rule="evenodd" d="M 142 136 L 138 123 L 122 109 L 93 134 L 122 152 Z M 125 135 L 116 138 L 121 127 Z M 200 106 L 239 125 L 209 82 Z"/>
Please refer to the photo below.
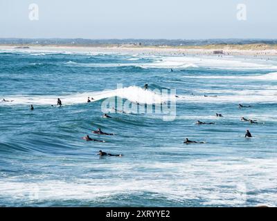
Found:
<path fill-rule="evenodd" d="M 136 46 L 204 46 L 211 44 L 277 44 L 277 39 L 20 39 L 0 38 L 0 44 L 7 45 L 71 45 L 71 46 L 96 46 L 96 45 L 123 45 Z"/>

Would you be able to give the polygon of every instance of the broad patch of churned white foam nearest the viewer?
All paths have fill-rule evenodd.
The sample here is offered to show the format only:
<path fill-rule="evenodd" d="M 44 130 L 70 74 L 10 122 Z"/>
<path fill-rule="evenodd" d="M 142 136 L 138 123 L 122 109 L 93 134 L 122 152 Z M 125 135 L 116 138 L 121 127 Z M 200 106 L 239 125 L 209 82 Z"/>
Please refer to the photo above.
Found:
<path fill-rule="evenodd" d="M 78 165 L 80 166 L 80 165 Z M 143 166 L 145 170 L 140 168 Z M 87 165 L 93 170 L 110 170 L 113 176 L 74 180 L 20 178 L 0 180 L 0 197 L 12 204 L 32 204 L 51 200 L 85 200 L 110 202 L 116 195 L 139 195 L 148 192 L 154 197 L 173 202 L 200 200 L 202 205 L 276 206 L 276 159 L 220 158 L 132 164 Z M 116 169 L 114 169 L 116 168 Z M 162 171 L 157 173 L 157 171 Z M 132 174 L 132 175 L 129 175 Z M 266 197 L 265 197 L 266 196 Z M 132 204 L 132 202 L 130 202 Z"/>

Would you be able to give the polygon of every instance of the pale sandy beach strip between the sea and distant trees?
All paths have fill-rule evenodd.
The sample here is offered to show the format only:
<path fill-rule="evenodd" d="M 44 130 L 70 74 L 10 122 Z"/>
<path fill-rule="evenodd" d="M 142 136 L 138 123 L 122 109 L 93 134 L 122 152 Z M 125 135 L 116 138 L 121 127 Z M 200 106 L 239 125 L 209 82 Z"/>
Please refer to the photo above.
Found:
<path fill-rule="evenodd" d="M 269 45 L 207 45 L 207 46 L 28 46 L 28 45 L 0 45 L 0 50 L 17 51 L 59 51 L 59 52 L 103 52 L 140 55 L 237 55 L 254 57 L 277 56 L 277 46 Z M 223 54 L 214 54 L 215 50 L 222 50 Z"/>

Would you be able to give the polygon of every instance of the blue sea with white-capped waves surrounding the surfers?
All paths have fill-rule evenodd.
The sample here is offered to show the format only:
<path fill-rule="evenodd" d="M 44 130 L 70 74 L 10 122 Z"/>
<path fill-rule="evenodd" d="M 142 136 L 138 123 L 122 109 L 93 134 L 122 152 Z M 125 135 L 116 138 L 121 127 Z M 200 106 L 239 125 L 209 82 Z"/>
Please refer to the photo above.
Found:
<path fill-rule="evenodd" d="M 0 206 L 277 206 L 276 57 L 1 50 L 3 98 Z"/>

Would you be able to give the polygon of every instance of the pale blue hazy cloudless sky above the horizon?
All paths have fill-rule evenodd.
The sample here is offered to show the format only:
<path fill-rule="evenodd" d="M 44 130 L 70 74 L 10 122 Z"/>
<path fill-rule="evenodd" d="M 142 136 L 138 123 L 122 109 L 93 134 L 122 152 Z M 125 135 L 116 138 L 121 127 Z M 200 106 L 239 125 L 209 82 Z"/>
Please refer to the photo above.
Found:
<path fill-rule="evenodd" d="M 28 6 L 37 3 L 39 20 Z M 237 19 L 237 5 L 247 20 Z M 0 0 L 0 37 L 277 38 L 276 0 Z"/>

